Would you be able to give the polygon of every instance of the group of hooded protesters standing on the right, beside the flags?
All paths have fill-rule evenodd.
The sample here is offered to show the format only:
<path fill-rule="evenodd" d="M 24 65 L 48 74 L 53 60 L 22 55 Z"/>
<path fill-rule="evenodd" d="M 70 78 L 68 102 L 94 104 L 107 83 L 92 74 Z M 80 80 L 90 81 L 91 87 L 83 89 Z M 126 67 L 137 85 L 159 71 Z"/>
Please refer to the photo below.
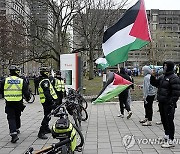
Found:
<path fill-rule="evenodd" d="M 124 68 L 120 68 L 118 74 L 126 80 L 133 82 L 131 74 L 128 75 L 128 71 L 125 71 Z M 142 68 L 142 75 L 144 76 L 143 101 L 145 116 L 139 122 L 142 123 L 142 126 L 152 126 L 153 101 L 155 96 L 157 96 L 161 118 L 161 122 L 158 122 L 158 124 L 162 124 L 164 128 L 164 137 L 159 139 L 164 141 L 161 147 L 174 147 L 174 114 L 177 108 L 177 101 L 180 97 L 179 67 L 175 67 L 172 61 L 166 61 L 163 63 L 163 72 L 161 75 L 157 74 L 156 70 L 150 66 L 144 66 Z M 133 89 L 132 85 L 131 88 Z M 119 94 L 120 114 L 118 117 L 124 118 L 124 108 L 128 112 L 127 119 L 133 114 L 129 101 L 129 89 L 130 87 Z"/>

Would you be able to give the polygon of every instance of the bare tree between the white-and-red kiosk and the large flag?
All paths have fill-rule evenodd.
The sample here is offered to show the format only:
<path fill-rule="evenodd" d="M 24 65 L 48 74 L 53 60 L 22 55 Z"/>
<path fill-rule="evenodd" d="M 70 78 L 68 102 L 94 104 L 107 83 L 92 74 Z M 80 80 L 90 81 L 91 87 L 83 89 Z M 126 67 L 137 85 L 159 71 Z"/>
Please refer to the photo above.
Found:
<path fill-rule="evenodd" d="M 90 80 L 94 78 L 94 60 L 102 55 L 101 44 L 104 30 L 117 22 L 122 14 L 121 9 L 127 1 L 121 0 L 120 3 L 114 3 L 113 0 L 83 0 L 78 5 L 84 9 L 78 9 L 73 31 L 83 38 L 78 42 L 79 48 L 88 51 Z M 96 54 L 97 51 L 99 54 Z"/>

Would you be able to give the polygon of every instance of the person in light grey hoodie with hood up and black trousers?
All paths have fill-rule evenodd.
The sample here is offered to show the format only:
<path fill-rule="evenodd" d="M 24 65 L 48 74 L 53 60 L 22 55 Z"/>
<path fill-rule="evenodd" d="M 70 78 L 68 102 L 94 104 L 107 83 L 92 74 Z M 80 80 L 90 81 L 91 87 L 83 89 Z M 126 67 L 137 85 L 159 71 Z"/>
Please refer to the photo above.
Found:
<path fill-rule="evenodd" d="M 144 66 L 142 68 L 142 73 L 144 76 L 143 81 L 143 100 L 145 108 L 145 119 L 140 120 L 142 126 L 152 125 L 152 115 L 153 115 L 153 101 L 156 95 L 156 88 L 150 84 L 151 68 L 149 66 Z"/>

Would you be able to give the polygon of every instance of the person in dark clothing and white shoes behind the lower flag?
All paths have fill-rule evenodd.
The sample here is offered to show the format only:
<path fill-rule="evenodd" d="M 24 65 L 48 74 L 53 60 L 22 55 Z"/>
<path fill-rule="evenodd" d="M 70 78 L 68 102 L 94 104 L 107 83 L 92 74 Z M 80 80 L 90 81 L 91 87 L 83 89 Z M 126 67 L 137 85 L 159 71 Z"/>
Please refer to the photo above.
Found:
<path fill-rule="evenodd" d="M 129 75 L 126 73 L 125 68 L 121 67 L 120 68 L 120 73 L 119 75 L 123 77 L 124 79 L 131 81 L 131 78 Z M 133 85 L 132 85 L 133 86 Z M 129 87 L 130 88 L 130 87 Z M 118 117 L 124 118 L 124 106 L 125 109 L 128 111 L 127 119 L 129 119 L 132 115 L 132 111 L 130 108 L 130 104 L 128 103 L 128 94 L 129 94 L 129 88 L 125 89 L 123 92 L 121 92 L 119 96 L 119 105 L 120 105 L 120 112 L 121 114 L 118 115 Z"/>

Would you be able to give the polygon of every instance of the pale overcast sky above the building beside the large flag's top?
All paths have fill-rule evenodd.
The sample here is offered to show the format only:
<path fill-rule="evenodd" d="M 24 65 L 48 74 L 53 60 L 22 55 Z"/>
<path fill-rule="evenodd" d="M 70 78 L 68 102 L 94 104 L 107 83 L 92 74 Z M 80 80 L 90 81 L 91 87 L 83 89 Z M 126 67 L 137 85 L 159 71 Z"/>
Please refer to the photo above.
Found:
<path fill-rule="evenodd" d="M 132 5 L 137 0 L 132 0 Z M 160 9 L 160 10 L 180 10 L 180 0 L 144 0 L 146 10 Z"/>

